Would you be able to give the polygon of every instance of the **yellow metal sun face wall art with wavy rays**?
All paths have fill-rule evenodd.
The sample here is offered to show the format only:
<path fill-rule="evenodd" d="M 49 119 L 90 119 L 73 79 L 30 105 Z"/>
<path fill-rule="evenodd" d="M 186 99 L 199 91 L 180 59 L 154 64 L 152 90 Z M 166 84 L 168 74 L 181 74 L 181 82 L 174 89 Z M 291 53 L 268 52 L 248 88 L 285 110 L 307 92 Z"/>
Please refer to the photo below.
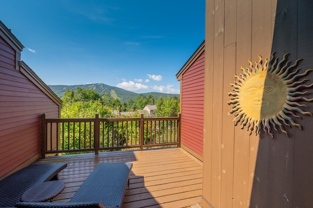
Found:
<path fill-rule="evenodd" d="M 232 105 L 230 113 L 235 114 L 235 125 L 241 124 L 241 128 L 247 128 L 249 134 L 255 131 L 256 135 L 261 136 L 261 130 L 268 133 L 273 138 L 271 127 L 277 132 L 276 126 L 287 136 L 284 125 L 291 127 L 301 125 L 296 124 L 293 119 L 300 118 L 295 112 L 313 116 L 311 112 L 303 111 L 300 107 L 307 107 L 305 104 L 299 104 L 299 101 L 312 102 L 303 95 L 310 94 L 309 91 L 302 91 L 313 87 L 313 83 L 305 85 L 308 79 L 299 79 L 308 75 L 313 69 L 306 70 L 303 74 L 298 74 L 300 68 L 294 70 L 301 59 L 290 65 L 287 62 L 288 53 L 284 55 L 282 61 L 275 59 L 275 53 L 272 53 L 270 60 L 265 59 L 262 65 L 262 57 L 259 55 L 259 61 L 252 62 L 248 60 L 249 66 L 244 69 L 243 74 L 235 75 L 237 81 L 230 85 L 234 88 L 233 92 L 228 93 Z M 293 117 L 293 118 L 291 118 Z M 290 125 L 291 124 L 291 125 Z"/>

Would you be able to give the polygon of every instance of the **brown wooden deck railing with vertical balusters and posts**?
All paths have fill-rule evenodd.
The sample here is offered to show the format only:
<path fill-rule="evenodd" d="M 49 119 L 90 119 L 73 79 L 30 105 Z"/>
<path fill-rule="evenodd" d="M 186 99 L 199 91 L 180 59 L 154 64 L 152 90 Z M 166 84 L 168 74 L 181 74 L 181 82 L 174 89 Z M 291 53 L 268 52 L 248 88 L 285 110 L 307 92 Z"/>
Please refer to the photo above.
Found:
<path fill-rule="evenodd" d="M 180 118 L 48 119 L 41 117 L 41 155 L 179 146 Z"/>

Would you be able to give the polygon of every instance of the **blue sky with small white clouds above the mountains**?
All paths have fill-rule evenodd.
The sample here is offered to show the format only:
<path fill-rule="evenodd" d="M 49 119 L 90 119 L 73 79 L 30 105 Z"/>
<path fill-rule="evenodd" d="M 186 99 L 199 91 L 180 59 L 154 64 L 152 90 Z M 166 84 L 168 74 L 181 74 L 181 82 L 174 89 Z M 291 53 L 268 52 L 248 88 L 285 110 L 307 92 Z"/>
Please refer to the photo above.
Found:
<path fill-rule="evenodd" d="M 204 40 L 205 0 L 1 0 L 22 60 L 48 85 L 179 93 Z"/>

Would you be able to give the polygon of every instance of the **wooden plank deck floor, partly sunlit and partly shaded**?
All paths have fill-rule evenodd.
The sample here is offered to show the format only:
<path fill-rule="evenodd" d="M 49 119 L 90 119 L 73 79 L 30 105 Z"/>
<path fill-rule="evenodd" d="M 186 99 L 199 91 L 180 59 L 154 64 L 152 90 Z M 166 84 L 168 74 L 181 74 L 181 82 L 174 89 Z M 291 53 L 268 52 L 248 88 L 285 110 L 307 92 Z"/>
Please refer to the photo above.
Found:
<path fill-rule="evenodd" d="M 112 162 L 133 163 L 123 208 L 183 208 L 201 203 L 202 164 L 181 148 L 53 156 L 38 161 L 67 163 L 59 173 L 65 189 L 54 198 L 56 202 L 68 202 L 99 163 Z"/>

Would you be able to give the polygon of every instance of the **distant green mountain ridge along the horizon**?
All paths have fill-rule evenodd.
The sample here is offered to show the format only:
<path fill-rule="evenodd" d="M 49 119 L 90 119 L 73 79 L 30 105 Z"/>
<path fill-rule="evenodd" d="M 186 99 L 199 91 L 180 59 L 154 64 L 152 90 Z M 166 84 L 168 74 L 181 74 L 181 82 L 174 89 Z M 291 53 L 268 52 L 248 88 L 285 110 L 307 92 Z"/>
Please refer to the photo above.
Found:
<path fill-rule="evenodd" d="M 69 90 L 76 90 L 77 87 L 81 87 L 83 89 L 92 89 L 100 94 L 102 97 L 105 93 L 109 93 L 114 99 L 119 98 L 121 102 L 128 102 L 128 100 L 131 98 L 134 101 L 136 100 L 136 97 L 139 95 L 138 93 L 131 92 L 122 88 L 109 86 L 104 83 L 96 83 L 96 84 L 81 84 L 81 85 L 48 85 L 50 89 L 57 95 L 59 98 L 62 98 L 65 91 L 67 89 Z M 174 96 L 179 98 L 179 94 L 166 94 L 166 93 L 160 93 L 160 92 L 148 92 L 148 93 L 140 93 L 144 96 L 148 96 L 148 94 L 151 94 L 154 98 L 159 97 L 171 97 Z"/>

